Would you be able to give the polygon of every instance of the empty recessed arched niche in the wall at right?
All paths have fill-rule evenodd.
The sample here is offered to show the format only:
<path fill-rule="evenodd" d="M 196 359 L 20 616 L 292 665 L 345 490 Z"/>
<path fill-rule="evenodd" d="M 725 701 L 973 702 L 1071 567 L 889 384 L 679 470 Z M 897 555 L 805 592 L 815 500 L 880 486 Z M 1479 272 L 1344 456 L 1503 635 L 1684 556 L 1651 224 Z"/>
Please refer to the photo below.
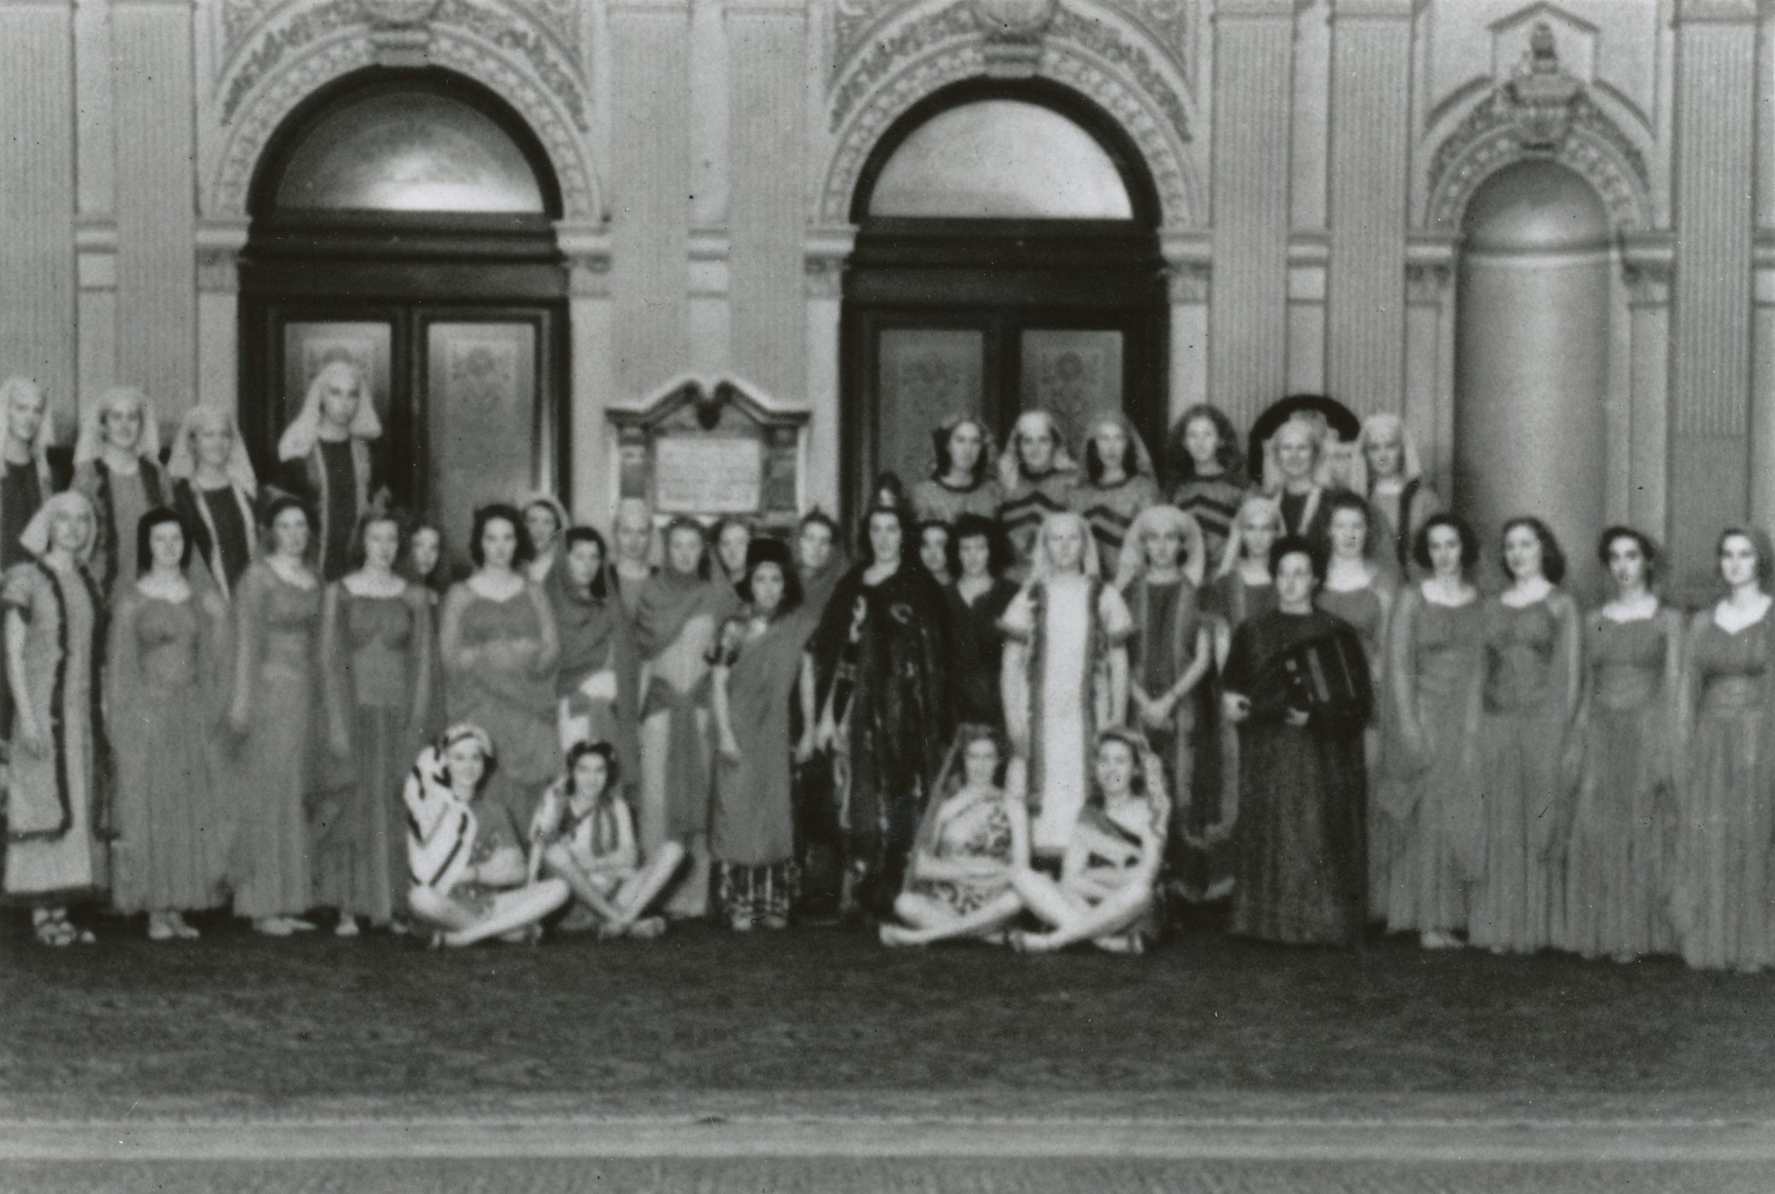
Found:
<path fill-rule="evenodd" d="M 1486 534 L 1539 516 L 1589 585 L 1608 447 L 1608 213 L 1578 174 L 1519 161 L 1473 192 L 1461 231 L 1456 502 Z"/>

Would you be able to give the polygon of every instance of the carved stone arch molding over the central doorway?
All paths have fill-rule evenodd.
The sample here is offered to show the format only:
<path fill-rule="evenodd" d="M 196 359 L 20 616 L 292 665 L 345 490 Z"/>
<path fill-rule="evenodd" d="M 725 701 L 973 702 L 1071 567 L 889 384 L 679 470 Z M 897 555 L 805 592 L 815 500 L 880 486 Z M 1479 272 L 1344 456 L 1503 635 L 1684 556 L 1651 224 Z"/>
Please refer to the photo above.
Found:
<path fill-rule="evenodd" d="M 832 92 L 836 149 L 820 188 L 820 220 L 848 218 L 864 160 L 907 108 L 950 83 L 1014 69 L 1065 83 L 1108 110 L 1140 147 L 1164 222 L 1200 224 L 1205 192 L 1187 151 L 1189 110 L 1148 48 L 1109 21 L 1061 5 L 1042 5 L 1045 23 L 1030 16 L 1017 25 L 1022 41 L 989 35 L 980 27 L 980 4 L 985 0 L 962 0 L 884 32 L 845 73 Z"/>

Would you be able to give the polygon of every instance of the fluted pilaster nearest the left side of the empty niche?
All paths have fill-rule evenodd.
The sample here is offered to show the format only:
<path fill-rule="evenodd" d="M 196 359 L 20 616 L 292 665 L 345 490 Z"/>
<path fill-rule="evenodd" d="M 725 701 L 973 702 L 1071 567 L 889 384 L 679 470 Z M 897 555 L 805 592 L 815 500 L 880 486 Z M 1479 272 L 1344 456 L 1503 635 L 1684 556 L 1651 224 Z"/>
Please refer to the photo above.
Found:
<path fill-rule="evenodd" d="M 1326 389 L 1399 412 L 1404 385 L 1411 0 L 1331 5 Z"/>

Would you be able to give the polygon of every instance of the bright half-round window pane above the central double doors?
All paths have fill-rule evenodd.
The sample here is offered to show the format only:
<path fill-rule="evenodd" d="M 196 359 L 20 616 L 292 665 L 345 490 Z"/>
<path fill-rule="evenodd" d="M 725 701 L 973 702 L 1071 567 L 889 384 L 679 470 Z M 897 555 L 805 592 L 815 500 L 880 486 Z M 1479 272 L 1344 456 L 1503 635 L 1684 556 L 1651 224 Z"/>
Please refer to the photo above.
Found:
<path fill-rule="evenodd" d="M 870 216 L 1132 220 L 1115 160 L 1086 130 L 1022 99 L 976 99 L 914 128 L 870 192 Z"/>

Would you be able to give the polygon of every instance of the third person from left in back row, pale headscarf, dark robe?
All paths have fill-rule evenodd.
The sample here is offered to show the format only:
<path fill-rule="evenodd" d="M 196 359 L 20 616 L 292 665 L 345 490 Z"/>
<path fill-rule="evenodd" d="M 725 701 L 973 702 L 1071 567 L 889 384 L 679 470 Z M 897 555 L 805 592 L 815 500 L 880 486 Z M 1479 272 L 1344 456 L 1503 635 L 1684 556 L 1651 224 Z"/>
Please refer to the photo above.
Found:
<path fill-rule="evenodd" d="M 224 598 L 259 550 L 259 481 L 225 406 L 192 406 L 167 460 L 172 507 Z"/>

